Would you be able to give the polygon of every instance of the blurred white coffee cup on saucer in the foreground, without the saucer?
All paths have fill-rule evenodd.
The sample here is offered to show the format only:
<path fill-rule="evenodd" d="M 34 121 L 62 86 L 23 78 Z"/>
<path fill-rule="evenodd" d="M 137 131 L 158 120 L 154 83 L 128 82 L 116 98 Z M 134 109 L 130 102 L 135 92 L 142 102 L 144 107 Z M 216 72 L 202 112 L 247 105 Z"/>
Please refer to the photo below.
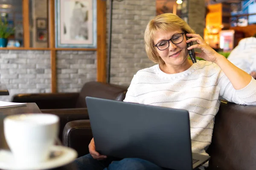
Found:
<path fill-rule="evenodd" d="M 6 142 L 20 165 L 47 161 L 58 128 L 59 118 L 53 114 L 28 113 L 4 119 Z"/>

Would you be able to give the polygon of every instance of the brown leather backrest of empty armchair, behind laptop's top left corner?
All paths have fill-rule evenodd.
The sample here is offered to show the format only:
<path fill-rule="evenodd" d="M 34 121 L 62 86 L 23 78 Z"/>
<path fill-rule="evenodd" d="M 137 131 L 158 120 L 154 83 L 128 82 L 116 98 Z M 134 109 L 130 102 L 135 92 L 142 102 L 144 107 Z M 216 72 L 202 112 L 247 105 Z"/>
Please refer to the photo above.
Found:
<path fill-rule="evenodd" d="M 127 89 L 127 87 L 121 85 L 112 85 L 102 82 L 87 82 L 80 91 L 76 108 L 87 108 L 85 102 L 86 96 L 123 101 Z"/>

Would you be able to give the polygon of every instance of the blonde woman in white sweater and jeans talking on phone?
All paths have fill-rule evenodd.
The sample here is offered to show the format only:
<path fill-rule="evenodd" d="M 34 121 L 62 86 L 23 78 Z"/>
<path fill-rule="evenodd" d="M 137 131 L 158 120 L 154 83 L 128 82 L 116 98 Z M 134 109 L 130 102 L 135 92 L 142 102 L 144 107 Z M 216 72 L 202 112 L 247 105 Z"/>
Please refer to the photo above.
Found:
<path fill-rule="evenodd" d="M 144 40 L 149 59 L 157 65 L 134 75 L 124 102 L 189 111 L 192 152 L 207 154 L 220 99 L 256 105 L 256 80 L 210 48 L 175 14 L 161 14 L 150 20 Z M 186 43 L 194 41 L 198 44 L 187 48 Z M 192 48 L 201 49 L 196 55 L 206 61 L 193 64 L 188 59 L 188 50 Z M 163 169 L 142 159 L 113 161 L 96 152 L 93 139 L 89 150 L 90 154 L 76 160 L 81 169 Z"/>

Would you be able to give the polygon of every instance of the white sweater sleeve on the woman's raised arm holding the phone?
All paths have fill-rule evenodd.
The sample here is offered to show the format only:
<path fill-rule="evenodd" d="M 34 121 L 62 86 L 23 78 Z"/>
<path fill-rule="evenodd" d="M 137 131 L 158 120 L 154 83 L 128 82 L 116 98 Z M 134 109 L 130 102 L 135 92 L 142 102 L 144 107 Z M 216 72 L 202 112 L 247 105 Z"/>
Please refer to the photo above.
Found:
<path fill-rule="evenodd" d="M 246 87 L 236 90 L 223 71 L 220 68 L 219 70 L 217 86 L 220 88 L 222 99 L 240 105 L 256 105 L 256 80 L 253 77 Z"/>

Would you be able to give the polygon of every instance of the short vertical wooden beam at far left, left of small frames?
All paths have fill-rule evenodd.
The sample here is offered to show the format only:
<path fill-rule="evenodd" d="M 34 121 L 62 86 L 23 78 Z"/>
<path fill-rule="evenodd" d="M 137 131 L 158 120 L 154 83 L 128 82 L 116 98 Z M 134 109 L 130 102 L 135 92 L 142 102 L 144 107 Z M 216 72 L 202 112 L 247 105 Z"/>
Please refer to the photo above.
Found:
<path fill-rule="evenodd" d="M 23 43 L 25 48 L 30 46 L 30 33 L 29 33 L 29 0 L 22 1 L 23 13 Z"/>

